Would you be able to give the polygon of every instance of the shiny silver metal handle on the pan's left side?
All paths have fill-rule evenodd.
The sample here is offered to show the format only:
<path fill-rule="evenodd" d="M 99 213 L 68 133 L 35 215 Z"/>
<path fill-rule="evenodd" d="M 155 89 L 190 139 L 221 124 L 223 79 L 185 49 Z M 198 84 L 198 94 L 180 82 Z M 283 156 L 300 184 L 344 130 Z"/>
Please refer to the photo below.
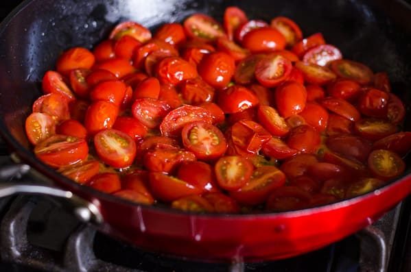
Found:
<path fill-rule="evenodd" d="M 25 173 L 33 171 L 27 164 L 12 164 L 1 166 L 0 180 L 10 180 L 12 177 L 21 178 Z M 86 201 L 78 195 L 74 195 L 69 190 L 62 190 L 51 185 L 38 185 L 32 183 L 14 183 L 1 182 L 0 183 L 0 197 L 8 197 L 17 194 L 30 195 L 45 195 L 49 197 L 57 197 L 64 201 L 60 201 L 64 208 L 69 208 L 80 221 L 101 224 L 103 223 L 102 214 L 99 212 L 97 206 Z"/>

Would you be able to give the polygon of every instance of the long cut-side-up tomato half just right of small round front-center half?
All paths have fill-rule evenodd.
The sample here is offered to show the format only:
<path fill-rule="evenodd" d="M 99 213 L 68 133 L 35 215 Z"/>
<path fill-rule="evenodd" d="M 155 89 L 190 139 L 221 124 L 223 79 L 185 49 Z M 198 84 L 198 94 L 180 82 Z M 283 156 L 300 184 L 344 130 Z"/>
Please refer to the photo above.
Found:
<path fill-rule="evenodd" d="M 238 203 L 255 206 L 266 202 L 270 193 L 285 184 L 285 175 L 276 166 L 261 166 L 253 171 L 250 180 L 229 194 Z"/>

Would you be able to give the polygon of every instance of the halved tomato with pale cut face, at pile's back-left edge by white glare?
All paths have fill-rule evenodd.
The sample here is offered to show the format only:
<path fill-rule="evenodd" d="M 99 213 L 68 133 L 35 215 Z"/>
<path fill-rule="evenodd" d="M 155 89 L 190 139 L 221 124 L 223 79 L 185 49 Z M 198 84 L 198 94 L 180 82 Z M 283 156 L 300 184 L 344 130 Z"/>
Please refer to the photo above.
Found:
<path fill-rule="evenodd" d="M 139 42 L 146 42 L 152 38 L 149 29 L 133 21 L 125 21 L 117 24 L 113 30 L 111 30 L 108 38 L 111 40 L 119 40 L 119 38 L 125 35 L 132 36 L 132 38 L 139 40 Z"/>

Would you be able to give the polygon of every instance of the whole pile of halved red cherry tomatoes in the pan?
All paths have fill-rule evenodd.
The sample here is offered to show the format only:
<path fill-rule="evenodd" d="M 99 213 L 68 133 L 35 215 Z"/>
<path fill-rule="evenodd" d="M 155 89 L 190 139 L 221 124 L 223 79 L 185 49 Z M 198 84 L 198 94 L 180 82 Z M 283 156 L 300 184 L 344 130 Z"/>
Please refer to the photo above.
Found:
<path fill-rule="evenodd" d="M 63 51 L 27 117 L 37 158 L 73 181 L 191 212 L 293 210 L 399 177 L 406 109 L 384 71 L 290 18 L 119 23 Z"/>

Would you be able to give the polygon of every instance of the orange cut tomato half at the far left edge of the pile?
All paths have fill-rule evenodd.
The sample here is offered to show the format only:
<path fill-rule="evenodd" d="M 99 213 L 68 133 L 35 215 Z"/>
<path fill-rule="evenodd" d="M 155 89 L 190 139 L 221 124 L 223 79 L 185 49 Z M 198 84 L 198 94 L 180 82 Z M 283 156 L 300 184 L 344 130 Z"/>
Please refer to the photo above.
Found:
<path fill-rule="evenodd" d="M 32 112 L 25 119 L 25 134 L 30 143 L 37 145 L 56 134 L 56 122 L 50 114 Z"/>

